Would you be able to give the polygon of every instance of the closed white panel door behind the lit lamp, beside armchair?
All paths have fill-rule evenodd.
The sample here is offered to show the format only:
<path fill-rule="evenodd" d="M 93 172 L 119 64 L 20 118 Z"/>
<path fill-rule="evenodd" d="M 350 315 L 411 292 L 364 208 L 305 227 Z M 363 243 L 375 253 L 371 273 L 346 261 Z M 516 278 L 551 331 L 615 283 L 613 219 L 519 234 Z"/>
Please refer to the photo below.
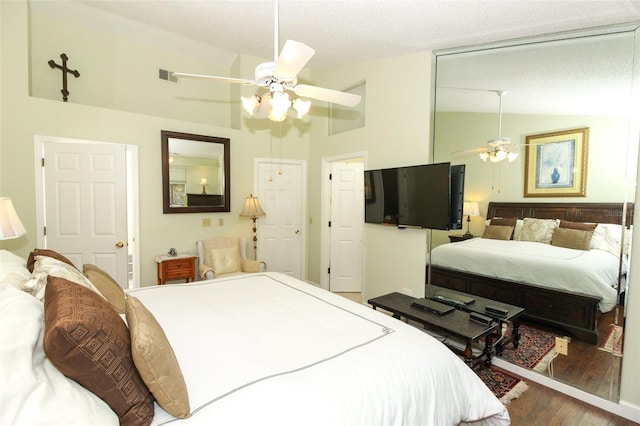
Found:
<path fill-rule="evenodd" d="M 266 213 L 257 223 L 257 257 L 268 271 L 304 279 L 305 164 L 258 160 L 256 176 L 256 193 Z"/>

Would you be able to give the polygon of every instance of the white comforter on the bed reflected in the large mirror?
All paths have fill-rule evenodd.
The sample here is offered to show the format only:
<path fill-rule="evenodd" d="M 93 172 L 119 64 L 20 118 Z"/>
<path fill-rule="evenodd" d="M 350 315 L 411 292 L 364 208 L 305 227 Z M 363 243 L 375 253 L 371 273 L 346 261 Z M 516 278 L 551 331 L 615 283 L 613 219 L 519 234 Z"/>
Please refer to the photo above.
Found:
<path fill-rule="evenodd" d="M 431 251 L 434 266 L 602 297 L 601 312 L 616 304 L 618 258 L 605 250 L 473 238 Z"/>

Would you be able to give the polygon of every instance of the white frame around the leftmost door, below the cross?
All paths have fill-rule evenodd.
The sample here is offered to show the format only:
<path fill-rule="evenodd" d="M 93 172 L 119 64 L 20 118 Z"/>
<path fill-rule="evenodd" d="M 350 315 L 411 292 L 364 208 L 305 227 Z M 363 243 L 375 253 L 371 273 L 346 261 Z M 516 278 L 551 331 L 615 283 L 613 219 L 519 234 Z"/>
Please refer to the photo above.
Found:
<path fill-rule="evenodd" d="M 138 170 L 138 146 L 128 144 L 118 144 L 115 142 L 103 142 L 88 139 L 72 139 L 59 136 L 35 135 L 34 145 L 34 172 L 35 172 L 35 197 L 36 197 L 36 245 L 46 247 L 46 239 L 43 232 L 45 226 L 44 214 L 44 170 L 42 159 L 44 158 L 45 143 L 78 143 L 78 144 L 109 144 L 124 145 L 126 162 L 126 188 L 127 188 L 127 239 L 128 244 L 133 246 L 133 277 L 130 288 L 140 287 L 140 211 L 138 191 L 139 170 Z M 130 229 L 133 228 L 133 229 Z M 131 238 L 132 241 L 129 241 Z M 128 250 L 128 249 L 127 249 Z"/>

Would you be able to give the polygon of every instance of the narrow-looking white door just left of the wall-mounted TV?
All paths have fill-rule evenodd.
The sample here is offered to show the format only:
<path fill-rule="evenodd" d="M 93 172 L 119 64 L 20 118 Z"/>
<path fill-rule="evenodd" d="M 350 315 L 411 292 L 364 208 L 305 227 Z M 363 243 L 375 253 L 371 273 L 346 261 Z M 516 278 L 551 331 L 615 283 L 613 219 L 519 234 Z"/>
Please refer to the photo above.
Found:
<path fill-rule="evenodd" d="M 362 290 L 364 164 L 331 165 L 331 260 L 329 289 Z"/>

